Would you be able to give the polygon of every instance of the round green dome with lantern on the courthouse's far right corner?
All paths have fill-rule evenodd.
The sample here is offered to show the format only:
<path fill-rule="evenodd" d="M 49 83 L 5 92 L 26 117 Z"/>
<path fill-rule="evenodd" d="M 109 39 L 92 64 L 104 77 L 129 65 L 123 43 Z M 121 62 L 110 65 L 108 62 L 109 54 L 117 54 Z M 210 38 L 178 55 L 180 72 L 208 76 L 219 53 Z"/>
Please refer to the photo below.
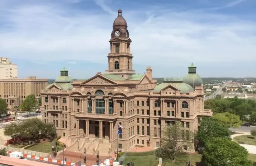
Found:
<path fill-rule="evenodd" d="M 202 86 L 203 81 L 196 73 L 196 66 L 193 63 L 188 66 L 188 74 L 183 78 L 183 81 L 193 88 L 195 88 L 195 86 Z"/>

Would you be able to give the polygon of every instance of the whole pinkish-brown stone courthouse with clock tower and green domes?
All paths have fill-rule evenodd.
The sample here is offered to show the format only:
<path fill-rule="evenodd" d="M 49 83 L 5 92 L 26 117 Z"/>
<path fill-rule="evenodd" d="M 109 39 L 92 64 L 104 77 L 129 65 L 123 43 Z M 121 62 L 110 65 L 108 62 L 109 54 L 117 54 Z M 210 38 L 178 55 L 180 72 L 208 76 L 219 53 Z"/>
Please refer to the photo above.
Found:
<path fill-rule="evenodd" d="M 123 151 L 137 145 L 158 148 L 166 124 L 180 121 L 186 139 L 189 131 L 197 130 L 202 116 L 212 115 L 203 109 L 203 84 L 195 65 L 188 67 L 184 78 L 165 78 L 159 85 L 151 67 L 136 74 L 121 10 L 109 42 L 105 73 L 73 81 L 63 68 L 55 83 L 42 90 L 42 120 L 55 123 L 57 134 L 71 140 L 68 148 L 90 151 L 92 142 L 100 153 L 113 152 L 117 146 Z M 117 125 L 124 127 L 120 135 Z"/>

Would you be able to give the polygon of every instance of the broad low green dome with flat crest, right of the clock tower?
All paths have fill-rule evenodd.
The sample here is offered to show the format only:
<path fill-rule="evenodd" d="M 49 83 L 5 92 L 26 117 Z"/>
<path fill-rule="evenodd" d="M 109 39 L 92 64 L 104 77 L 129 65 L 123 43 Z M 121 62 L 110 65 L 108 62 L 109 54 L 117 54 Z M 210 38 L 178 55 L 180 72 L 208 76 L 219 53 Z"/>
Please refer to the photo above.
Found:
<path fill-rule="evenodd" d="M 184 83 L 183 79 L 181 79 L 181 78 L 165 78 L 163 83 L 157 85 L 154 88 L 154 91 L 160 92 L 163 88 L 165 88 L 168 85 L 172 85 L 172 86 L 176 87 L 181 92 L 194 91 L 194 88 L 191 87 L 190 85 Z"/>

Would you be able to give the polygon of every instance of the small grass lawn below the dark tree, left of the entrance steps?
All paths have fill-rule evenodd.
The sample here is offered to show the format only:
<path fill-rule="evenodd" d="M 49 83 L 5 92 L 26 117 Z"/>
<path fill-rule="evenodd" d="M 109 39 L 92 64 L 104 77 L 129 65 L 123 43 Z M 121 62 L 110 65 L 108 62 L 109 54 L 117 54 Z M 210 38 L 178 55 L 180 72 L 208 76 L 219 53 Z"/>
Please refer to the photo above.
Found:
<path fill-rule="evenodd" d="M 37 152 L 43 152 L 43 153 L 52 153 L 51 148 L 53 146 L 53 142 L 46 142 L 42 144 L 37 144 L 33 147 L 27 148 L 26 150 L 32 150 Z M 61 151 L 62 147 L 56 146 L 56 152 Z"/>

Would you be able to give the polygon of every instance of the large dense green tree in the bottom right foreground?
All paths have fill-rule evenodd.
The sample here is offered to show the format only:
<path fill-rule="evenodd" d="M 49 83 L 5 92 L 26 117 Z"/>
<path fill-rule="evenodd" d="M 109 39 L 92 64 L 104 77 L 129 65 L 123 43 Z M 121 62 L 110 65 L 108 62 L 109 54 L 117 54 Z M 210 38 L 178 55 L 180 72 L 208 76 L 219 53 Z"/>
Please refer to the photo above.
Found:
<path fill-rule="evenodd" d="M 206 166 L 253 166 L 248 151 L 228 138 L 212 138 L 206 142 L 202 161 Z"/>

